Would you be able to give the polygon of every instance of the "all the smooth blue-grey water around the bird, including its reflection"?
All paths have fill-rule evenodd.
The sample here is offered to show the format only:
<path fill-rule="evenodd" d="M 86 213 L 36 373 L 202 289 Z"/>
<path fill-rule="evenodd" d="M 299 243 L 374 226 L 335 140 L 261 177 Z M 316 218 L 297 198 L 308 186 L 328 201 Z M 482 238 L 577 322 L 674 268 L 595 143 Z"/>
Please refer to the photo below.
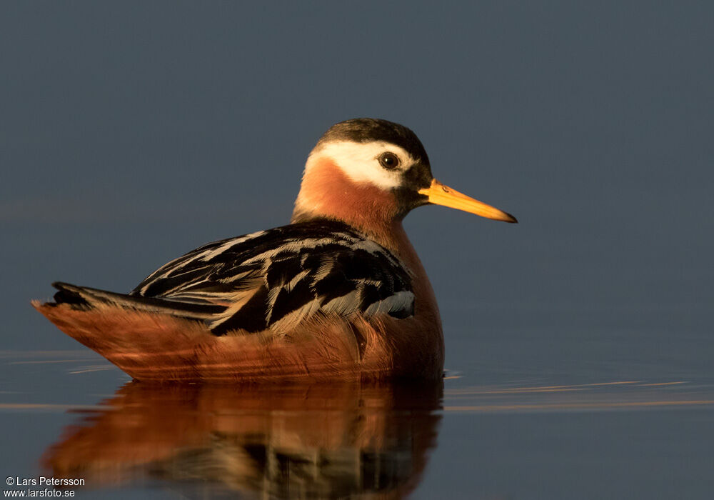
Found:
<path fill-rule="evenodd" d="M 705 2 L 0 5 L 0 472 L 83 498 L 710 498 L 713 22 Z M 285 224 L 308 151 L 354 116 L 411 127 L 438 179 L 521 222 L 405 221 L 443 387 L 150 391 L 29 306 Z"/>

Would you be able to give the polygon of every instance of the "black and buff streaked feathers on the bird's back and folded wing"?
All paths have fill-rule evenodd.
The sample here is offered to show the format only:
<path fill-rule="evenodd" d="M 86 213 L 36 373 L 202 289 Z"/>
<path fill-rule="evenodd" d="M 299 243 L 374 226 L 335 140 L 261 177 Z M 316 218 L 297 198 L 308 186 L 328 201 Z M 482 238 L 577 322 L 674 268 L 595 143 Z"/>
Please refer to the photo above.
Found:
<path fill-rule="evenodd" d="M 206 319 L 221 335 L 288 331 L 318 312 L 407 318 L 414 313 L 411 281 L 388 249 L 347 224 L 318 219 L 201 246 L 131 295 L 223 306 Z"/>

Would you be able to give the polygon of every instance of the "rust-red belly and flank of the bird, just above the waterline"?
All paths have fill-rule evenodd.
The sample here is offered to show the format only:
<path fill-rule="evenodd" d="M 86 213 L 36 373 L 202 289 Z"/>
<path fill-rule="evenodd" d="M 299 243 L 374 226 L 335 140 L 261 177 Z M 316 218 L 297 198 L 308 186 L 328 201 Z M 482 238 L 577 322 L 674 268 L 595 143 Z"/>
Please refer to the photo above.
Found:
<path fill-rule="evenodd" d="M 216 336 L 204 324 L 167 314 L 109 305 L 84 311 L 67 304 L 33 305 L 140 381 L 244 384 L 441 376 L 441 361 L 422 345 L 423 331 L 413 317 L 316 314 L 285 334 Z"/>

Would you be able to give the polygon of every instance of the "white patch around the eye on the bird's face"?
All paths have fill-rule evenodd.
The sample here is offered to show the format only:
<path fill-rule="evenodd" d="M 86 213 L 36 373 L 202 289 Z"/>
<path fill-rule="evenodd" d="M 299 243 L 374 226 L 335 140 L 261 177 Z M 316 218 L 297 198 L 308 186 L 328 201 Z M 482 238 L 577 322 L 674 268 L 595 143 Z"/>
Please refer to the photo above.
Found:
<path fill-rule="evenodd" d="M 389 151 L 399 158 L 399 166 L 388 170 L 379 164 L 379 156 Z M 399 146 L 388 142 L 328 142 L 313 151 L 316 156 L 328 156 L 352 181 L 368 182 L 381 189 L 401 186 L 402 172 L 413 164 L 414 159 Z M 312 156 L 312 155 L 311 155 Z M 308 166 L 311 161 L 308 159 Z"/>

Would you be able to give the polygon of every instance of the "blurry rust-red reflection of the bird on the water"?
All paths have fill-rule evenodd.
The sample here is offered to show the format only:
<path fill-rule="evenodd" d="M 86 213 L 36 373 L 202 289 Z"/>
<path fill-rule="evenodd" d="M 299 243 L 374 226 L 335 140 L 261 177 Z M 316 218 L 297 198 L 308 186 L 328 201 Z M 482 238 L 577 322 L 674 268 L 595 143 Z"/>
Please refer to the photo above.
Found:
<path fill-rule="evenodd" d="M 45 452 L 87 486 L 159 479 L 268 497 L 400 498 L 436 445 L 443 385 L 131 382 Z M 204 491 L 205 492 L 205 491 Z M 253 495 L 250 495 L 253 496 Z"/>

